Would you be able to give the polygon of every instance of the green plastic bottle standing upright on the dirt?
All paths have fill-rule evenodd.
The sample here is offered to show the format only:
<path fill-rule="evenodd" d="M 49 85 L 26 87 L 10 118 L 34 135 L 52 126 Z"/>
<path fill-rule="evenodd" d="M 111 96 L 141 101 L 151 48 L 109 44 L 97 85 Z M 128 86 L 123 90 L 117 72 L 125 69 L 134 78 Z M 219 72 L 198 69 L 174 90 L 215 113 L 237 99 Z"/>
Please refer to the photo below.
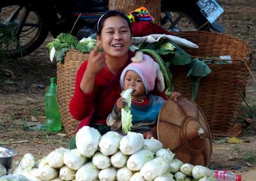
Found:
<path fill-rule="evenodd" d="M 45 129 L 58 132 L 61 129 L 60 108 L 57 101 L 57 78 L 51 77 L 51 84 L 45 93 Z"/>

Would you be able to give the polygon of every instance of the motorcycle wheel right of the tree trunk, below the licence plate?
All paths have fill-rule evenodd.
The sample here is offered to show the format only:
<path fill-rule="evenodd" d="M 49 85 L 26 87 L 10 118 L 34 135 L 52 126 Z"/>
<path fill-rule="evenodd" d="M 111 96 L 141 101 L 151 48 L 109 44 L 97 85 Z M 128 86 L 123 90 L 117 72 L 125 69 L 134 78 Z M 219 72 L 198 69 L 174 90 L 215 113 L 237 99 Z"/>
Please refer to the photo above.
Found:
<path fill-rule="evenodd" d="M 196 11 L 165 10 L 161 15 L 161 26 L 173 33 L 179 31 L 210 31 L 203 15 Z"/>

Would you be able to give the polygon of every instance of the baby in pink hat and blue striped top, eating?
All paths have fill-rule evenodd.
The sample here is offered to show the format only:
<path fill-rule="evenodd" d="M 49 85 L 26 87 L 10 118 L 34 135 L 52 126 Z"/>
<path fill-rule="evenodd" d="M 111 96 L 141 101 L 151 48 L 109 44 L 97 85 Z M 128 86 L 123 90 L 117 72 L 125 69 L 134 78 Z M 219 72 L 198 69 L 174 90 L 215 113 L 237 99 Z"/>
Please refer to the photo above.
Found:
<path fill-rule="evenodd" d="M 164 91 L 164 78 L 159 65 L 150 56 L 137 52 L 120 76 L 120 84 L 124 91 L 133 89 L 131 93 L 131 131 L 143 133 L 144 138 L 157 138 L 156 122 L 164 103 L 160 96 L 150 94 L 157 86 L 157 91 Z M 175 101 L 179 92 L 172 92 Z M 113 111 L 109 114 L 107 125 L 113 131 L 122 133 L 121 110 L 125 106 L 125 98 L 118 98 Z"/>

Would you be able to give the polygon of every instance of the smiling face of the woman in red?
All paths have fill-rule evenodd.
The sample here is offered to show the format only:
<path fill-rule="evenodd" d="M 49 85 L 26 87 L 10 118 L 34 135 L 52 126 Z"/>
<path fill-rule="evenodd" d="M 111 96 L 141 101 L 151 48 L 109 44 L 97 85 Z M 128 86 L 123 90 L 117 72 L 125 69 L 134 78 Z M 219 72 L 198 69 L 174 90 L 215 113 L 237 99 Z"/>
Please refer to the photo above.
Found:
<path fill-rule="evenodd" d="M 97 40 L 106 57 L 124 57 L 131 45 L 131 31 L 128 23 L 120 16 L 107 18 Z"/>

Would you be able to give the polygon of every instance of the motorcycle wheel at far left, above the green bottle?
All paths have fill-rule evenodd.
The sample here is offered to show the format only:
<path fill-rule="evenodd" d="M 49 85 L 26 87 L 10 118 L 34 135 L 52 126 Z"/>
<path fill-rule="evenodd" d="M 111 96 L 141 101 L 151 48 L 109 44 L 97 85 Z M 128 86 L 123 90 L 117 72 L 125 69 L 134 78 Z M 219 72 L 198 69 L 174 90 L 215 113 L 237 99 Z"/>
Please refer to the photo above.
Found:
<path fill-rule="evenodd" d="M 0 55 L 19 58 L 40 47 L 49 31 L 36 11 L 9 5 L 0 11 Z"/>

